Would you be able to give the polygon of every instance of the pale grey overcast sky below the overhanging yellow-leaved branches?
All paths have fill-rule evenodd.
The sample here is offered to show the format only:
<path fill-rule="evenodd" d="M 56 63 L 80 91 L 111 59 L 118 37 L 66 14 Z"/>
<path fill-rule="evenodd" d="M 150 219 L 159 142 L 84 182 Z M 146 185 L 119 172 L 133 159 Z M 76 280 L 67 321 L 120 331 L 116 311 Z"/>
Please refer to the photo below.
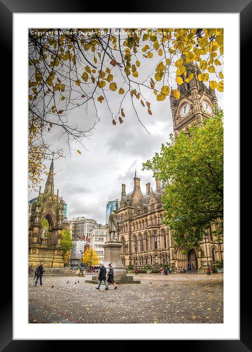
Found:
<path fill-rule="evenodd" d="M 145 61 L 148 62 L 149 61 Z M 144 70 L 144 65 L 142 67 Z M 208 84 L 207 84 L 208 85 Z M 176 88 L 176 84 L 172 88 Z M 111 107 L 118 110 L 118 94 L 111 94 Z M 122 124 L 114 126 L 106 105 L 99 107 L 100 121 L 96 124 L 90 139 L 84 140 L 86 151 L 80 145 L 72 146 L 80 149 L 67 150 L 63 139 L 58 141 L 59 131 L 53 131 L 49 140 L 53 146 L 65 148 L 65 158 L 55 160 L 55 193 L 59 190 L 60 197 L 67 203 L 67 217 L 71 220 L 76 216 L 84 216 L 105 224 L 106 204 L 113 199 L 120 198 L 121 184 L 126 184 L 126 192 L 133 190 L 135 169 L 141 179 L 141 190 L 145 192 L 145 184 L 151 183 L 155 188 L 155 179 L 151 172 L 141 171 L 141 164 L 152 158 L 160 150 L 161 144 L 169 140 L 173 133 L 172 117 L 169 98 L 165 101 L 155 101 L 153 92 L 145 91 L 145 98 L 151 102 L 152 116 L 146 108 L 139 104 L 138 113 L 142 123 L 150 135 L 140 125 L 132 108 L 130 100 L 124 107 L 126 117 Z M 148 97 L 149 94 L 149 97 Z M 219 106 L 223 107 L 223 93 L 216 92 Z M 71 121 L 84 121 L 84 126 L 91 125 L 95 119 L 95 112 L 90 108 L 88 114 L 83 108 L 75 109 L 69 116 Z M 50 163 L 48 162 L 48 167 Z M 46 177 L 41 183 L 44 190 Z M 28 198 L 36 197 L 36 192 L 30 192 Z"/>

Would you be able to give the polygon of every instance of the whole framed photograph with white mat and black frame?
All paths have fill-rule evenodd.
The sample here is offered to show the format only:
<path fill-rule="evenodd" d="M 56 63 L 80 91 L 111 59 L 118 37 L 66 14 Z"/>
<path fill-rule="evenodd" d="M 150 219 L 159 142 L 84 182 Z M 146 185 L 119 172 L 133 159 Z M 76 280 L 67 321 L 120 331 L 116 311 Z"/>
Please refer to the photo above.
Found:
<path fill-rule="evenodd" d="M 153 7 L 0 3 L 14 98 L 2 351 L 61 339 L 252 350 L 239 236 L 252 4 Z"/>

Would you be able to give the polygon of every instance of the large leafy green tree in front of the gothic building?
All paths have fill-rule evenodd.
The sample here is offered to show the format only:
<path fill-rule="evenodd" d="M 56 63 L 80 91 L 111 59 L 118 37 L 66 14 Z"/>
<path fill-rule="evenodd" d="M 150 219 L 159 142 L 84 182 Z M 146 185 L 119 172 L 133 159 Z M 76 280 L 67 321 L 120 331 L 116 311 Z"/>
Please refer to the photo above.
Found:
<path fill-rule="evenodd" d="M 168 182 L 163 194 L 165 219 L 177 245 L 188 248 L 202 240 L 210 223 L 217 237 L 223 234 L 223 112 L 182 131 L 162 145 L 160 153 L 143 164 L 154 177 Z"/>

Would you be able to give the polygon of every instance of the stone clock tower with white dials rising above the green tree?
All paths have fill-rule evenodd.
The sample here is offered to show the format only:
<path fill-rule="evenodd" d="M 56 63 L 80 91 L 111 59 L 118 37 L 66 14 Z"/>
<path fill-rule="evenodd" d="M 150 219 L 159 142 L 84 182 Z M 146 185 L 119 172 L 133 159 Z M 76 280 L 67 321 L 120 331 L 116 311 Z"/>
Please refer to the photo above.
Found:
<path fill-rule="evenodd" d="M 187 83 L 183 74 L 181 77 L 184 81 L 178 85 L 180 92 L 179 99 L 170 95 L 170 108 L 172 112 L 174 136 L 177 137 L 180 131 L 184 130 L 189 134 L 189 127 L 192 124 L 200 126 L 204 118 L 214 115 L 214 108 L 218 107 L 218 101 L 215 90 L 207 88 L 203 81 L 198 81 L 198 74 L 201 73 L 197 64 L 186 62 L 185 56 L 183 65 L 186 67 L 187 77 L 193 73 L 193 79 Z"/>

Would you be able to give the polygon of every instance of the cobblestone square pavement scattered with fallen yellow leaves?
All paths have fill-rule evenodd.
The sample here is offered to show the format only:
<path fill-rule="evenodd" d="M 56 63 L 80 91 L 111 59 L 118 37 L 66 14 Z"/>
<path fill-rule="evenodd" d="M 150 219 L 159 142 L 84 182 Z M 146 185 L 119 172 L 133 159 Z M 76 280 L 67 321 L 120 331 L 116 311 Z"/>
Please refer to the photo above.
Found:
<path fill-rule="evenodd" d="M 87 276 L 29 278 L 29 323 L 223 323 L 223 274 L 131 275 L 141 284 L 108 291 Z"/>

